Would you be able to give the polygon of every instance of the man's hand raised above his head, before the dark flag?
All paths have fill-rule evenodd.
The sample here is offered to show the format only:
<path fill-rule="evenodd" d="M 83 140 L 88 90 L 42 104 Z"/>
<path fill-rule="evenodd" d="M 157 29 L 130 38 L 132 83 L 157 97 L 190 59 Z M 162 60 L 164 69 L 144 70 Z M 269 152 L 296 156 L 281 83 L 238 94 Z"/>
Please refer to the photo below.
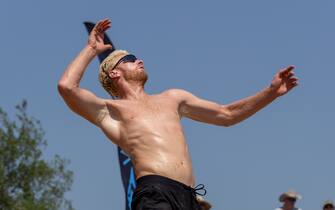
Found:
<path fill-rule="evenodd" d="M 109 19 L 100 20 L 90 33 L 87 45 L 94 49 L 96 54 L 112 48 L 112 45 L 104 43 L 104 33 L 111 27 L 111 23 Z"/>

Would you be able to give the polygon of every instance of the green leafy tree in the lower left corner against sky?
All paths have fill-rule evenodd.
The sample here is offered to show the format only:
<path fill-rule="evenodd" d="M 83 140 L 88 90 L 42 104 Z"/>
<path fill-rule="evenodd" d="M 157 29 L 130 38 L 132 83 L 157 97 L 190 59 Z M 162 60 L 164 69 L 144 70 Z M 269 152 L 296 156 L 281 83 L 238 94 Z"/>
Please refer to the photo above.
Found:
<path fill-rule="evenodd" d="M 42 159 L 46 147 L 40 122 L 16 106 L 17 121 L 0 108 L 0 210 L 73 210 L 64 198 L 72 185 L 68 160 Z"/>

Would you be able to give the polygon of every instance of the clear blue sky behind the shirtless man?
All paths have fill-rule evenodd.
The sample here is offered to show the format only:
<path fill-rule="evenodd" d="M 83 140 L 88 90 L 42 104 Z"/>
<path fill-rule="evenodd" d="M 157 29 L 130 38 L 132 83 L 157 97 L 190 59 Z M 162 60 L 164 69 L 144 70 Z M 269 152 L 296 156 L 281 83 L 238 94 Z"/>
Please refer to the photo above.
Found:
<path fill-rule="evenodd" d="M 303 209 L 335 199 L 335 2 L 282 1 L 9 1 L 0 3 L 0 106 L 28 100 L 41 120 L 45 158 L 71 160 L 67 197 L 78 210 L 123 209 L 116 148 L 74 115 L 57 81 L 84 47 L 83 21 L 112 19 L 118 48 L 144 59 L 148 93 L 183 88 L 229 103 L 296 66 L 300 85 L 252 118 L 229 128 L 183 120 L 197 183 L 215 210 L 265 210 L 297 190 Z M 94 60 L 82 87 L 108 97 Z"/>

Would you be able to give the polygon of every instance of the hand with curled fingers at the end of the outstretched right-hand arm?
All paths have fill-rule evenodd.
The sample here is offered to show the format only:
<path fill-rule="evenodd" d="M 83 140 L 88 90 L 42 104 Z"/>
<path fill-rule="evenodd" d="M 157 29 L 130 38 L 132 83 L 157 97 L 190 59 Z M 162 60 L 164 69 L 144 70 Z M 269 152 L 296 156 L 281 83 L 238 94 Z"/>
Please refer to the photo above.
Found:
<path fill-rule="evenodd" d="M 298 78 L 294 77 L 294 66 L 281 69 L 271 82 L 271 89 L 277 96 L 282 96 L 298 85 Z"/>

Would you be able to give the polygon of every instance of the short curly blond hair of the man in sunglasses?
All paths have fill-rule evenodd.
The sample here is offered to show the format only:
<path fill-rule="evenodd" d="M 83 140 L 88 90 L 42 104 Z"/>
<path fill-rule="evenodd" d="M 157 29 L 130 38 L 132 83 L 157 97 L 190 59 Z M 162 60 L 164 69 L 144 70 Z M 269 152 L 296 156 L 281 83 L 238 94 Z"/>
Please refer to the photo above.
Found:
<path fill-rule="evenodd" d="M 108 71 L 115 68 L 117 62 L 124 56 L 129 55 L 125 50 L 115 50 L 109 54 L 100 64 L 99 81 L 102 87 L 111 95 L 118 96 L 117 87 L 109 77 Z"/>

